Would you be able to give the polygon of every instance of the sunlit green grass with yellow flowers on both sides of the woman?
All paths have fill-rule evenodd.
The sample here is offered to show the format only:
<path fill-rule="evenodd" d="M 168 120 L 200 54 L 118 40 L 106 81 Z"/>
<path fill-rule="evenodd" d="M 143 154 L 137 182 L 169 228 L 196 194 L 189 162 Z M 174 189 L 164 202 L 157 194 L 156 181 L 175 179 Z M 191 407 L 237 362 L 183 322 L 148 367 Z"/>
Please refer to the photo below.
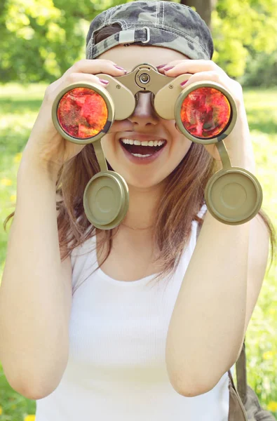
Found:
<path fill-rule="evenodd" d="M 16 175 L 24 149 L 46 89 L 45 84 L 22 88 L 15 83 L 1 86 L 0 95 L 0 279 L 6 258 L 8 234 L 3 222 L 13 212 Z M 277 228 L 277 89 L 245 90 L 245 108 L 256 158 L 256 176 L 262 185 L 262 208 Z M 10 224 L 8 224 L 8 228 Z M 277 420 L 277 265 L 266 272 L 262 291 L 246 336 L 248 384 L 259 402 L 272 410 Z M 235 376 L 236 379 L 236 376 Z M 16 393 L 0 365 L 0 421 L 24 421 L 34 414 L 35 401 Z M 26 417 L 26 421 L 31 418 Z"/>

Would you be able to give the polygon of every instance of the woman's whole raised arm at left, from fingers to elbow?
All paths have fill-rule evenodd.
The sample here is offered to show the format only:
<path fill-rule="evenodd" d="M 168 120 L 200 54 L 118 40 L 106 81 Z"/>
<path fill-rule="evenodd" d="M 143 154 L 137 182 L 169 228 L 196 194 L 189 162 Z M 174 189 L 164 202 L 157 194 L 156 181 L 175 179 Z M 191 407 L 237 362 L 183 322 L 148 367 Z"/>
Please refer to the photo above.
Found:
<path fill-rule="evenodd" d="M 60 261 L 55 182 L 61 166 L 81 152 L 56 130 L 52 107 L 76 81 L 105 84 L 95 76 L 124 70 L 111 60 L 79 60 L 46 88 L 18 171 L 18 199 L 0 288 L 0 359 L 10 385 L 39 399 L 58 387 L 69 354 L 72 305 L 70 258 Z M 115 122 L 120 131 L 130 123 Z"/>

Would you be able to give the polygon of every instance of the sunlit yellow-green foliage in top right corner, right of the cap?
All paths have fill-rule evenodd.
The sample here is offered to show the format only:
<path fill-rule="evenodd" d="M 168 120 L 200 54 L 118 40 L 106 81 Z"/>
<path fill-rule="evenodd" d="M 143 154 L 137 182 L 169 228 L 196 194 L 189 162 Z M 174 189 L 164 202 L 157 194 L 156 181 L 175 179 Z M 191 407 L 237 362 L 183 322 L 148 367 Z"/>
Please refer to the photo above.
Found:
<path fill-rule="evenodd" d="M 213 60 L 234 78 L 252 71 L 260 53 L 264 58 L 276 53 L 276 21 L 277 0 L 218 0 L 212 12 Z"/>

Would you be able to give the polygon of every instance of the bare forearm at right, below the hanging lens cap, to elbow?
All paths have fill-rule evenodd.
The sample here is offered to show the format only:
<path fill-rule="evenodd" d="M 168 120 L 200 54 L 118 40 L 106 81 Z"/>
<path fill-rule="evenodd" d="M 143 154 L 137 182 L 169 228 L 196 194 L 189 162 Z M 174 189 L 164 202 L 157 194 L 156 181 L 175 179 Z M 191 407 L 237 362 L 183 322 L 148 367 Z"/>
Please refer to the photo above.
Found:
<path fill-rule="evenodd" d="M 208 392 L 238 359 L 268 251 L 259 215 L 230 226 L 207 211 L 168 329 L 167 368 L 180 394 Z"/>

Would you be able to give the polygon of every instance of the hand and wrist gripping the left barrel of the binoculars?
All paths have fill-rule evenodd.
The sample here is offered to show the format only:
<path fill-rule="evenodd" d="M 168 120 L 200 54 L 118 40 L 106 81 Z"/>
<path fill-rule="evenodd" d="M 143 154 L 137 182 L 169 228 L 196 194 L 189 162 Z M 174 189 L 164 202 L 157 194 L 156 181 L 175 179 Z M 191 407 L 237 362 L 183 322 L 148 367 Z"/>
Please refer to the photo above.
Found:
<path fill-rule="evenodd" d="M 111 60 L 79 60 L 46 88 L 39 114 L 22 153 L 22 161 L 58 174 L 63 163 L 81 152 L 86 145 L 69 142 L 56 130 L 52 120 L 53 102 L 62 89 L 74 82 L 87 81 L 106 87 L 107 84 L 95 74 L 123 76 L 124 70 L 117 69 L 115 65 Z"/>

